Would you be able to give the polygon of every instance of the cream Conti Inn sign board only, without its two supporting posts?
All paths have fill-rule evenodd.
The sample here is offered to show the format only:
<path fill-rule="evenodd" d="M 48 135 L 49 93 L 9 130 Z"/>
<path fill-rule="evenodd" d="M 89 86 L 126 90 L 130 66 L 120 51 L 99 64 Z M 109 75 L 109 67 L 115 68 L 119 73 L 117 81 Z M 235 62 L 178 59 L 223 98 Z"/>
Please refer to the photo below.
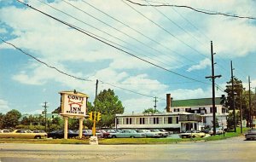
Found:
<path fill-rule="evenodd" d="M 86 116 L 86 103 L 88 95 L 74 91 L 62 91 L 61 115 L 62 116 Z"/>

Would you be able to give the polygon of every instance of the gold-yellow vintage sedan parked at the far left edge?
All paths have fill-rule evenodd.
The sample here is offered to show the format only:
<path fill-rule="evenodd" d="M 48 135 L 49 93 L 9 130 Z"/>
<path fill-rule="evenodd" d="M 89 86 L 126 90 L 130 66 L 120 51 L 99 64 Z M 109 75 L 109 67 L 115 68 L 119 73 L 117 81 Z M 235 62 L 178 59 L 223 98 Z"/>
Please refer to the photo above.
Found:
<path fill-rule="evenodd" d="M 46 138 L 47 133 L 33 133 L 32 130 L 20 129 L 9 133 L 1 133 L 0 138 Z"/>

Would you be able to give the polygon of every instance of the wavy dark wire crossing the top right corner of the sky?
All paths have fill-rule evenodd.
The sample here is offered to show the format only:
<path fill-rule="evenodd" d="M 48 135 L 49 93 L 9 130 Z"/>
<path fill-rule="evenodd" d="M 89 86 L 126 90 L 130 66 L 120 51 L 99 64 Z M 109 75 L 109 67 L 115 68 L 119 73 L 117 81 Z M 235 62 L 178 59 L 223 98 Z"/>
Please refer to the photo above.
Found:
<path fill-rule="evenodd" d="M 175 7 L 175 8 L 186 8 L 186 9 L 192 9 L 195 12 L 201 13 L 201 14 L 211 14 L 211 15 L 224 15 L 228 17 L 234 17 L 234 18 L 239 18 L 239 19 L 250 19 L 250 20 L 256 20 L 255 17 L 251 16 L 241 16 L 241 15 L 236 15 L 236 14 L 226 14 L 226 13 L 221 13 L 221 12 L 216 12 L 216 11 L 205 11 L 203 9 L 195 9 L 190 6 L 186 5 L 175 5 L 175 4 L 144 4 L 144 3 L 135 3 L 131 0 L 125 0 L 129 3 L 137 4 L 139 6 L 147 7 L 147 6 L 153 6 L 153 7 Z"/>

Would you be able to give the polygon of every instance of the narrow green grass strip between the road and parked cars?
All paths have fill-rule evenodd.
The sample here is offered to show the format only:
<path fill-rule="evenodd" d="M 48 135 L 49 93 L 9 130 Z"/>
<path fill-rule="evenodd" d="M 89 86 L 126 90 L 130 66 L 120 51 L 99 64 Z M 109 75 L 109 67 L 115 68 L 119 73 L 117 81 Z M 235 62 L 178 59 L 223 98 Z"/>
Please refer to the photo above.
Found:
<path fill-rule="evenodd" d="M 245 133 L 248 128 L 243 129 Z M 242 136 L 240 128 L 235 132 L 226 132 L 225 136 L 208 136 L 205 138 L 184 138 L 184 139 L 171 139 L 171 138 L 110 138 L 99 139 L 99 144 L 102 145 L 119 145 L 119 144 L 172 144 L 177 142 L 196 142 L 196 141 L 214 141 L 224 140 L 226 138 Z M 0 138 L 0 143 L 35 143 L 35 144 L 89 144 L 89 139 L 13 139 L 13 138 Z"/>

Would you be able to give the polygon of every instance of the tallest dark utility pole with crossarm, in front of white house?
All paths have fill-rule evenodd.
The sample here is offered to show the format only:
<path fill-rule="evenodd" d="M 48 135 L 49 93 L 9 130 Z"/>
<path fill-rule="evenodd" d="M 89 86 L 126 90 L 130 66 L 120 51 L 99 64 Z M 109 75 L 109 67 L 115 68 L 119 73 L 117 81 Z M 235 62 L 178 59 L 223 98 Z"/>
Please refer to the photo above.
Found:
<path fill-rule="evenodd" d="M 211 56 L 212 56 L 212 76 L 206 78 L 212 78 L 212 118 L 213 118 L 213 136 L 216 135 L 216 107 L 215 107 L 215 78 L 220 78 L 221 75 L 214 75 L 214 60 L 213 60 L 213 49 L 211 41 Z"/>

